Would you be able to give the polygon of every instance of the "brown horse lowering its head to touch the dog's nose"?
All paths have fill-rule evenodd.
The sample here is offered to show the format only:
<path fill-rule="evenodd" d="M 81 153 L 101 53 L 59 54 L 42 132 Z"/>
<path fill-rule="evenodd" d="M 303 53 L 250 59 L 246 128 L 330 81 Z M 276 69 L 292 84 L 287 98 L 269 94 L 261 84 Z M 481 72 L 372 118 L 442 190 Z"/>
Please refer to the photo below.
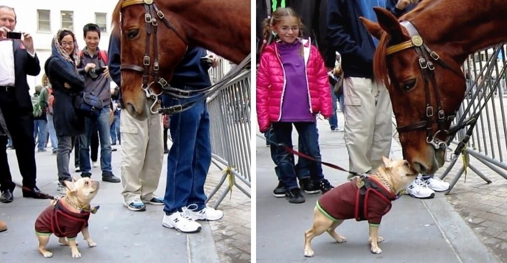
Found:
<path fill-rule="evenodd" d="M 507 1 L 423 0 L 399 20 L 375 8 L 380 39 L 375 75 L 386 83 L 404 158 L 418 172 L 444 164 L 446 130 L 465 95 L 460 66 L 469 54 L 507 41 Z"/>

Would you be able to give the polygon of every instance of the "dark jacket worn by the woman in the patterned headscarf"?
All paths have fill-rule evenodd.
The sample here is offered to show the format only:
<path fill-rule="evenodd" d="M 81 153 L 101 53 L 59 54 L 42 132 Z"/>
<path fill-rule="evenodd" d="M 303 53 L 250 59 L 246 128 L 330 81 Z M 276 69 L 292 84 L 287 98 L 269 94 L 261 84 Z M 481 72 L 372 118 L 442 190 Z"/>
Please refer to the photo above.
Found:
<path fill-rule="evenodd" d="M 74 109 L 75 94 L 85 89 L 85 77 L 68 68 L 61 59 L 49 57 L 44 66 L 53 86 L 53 122 L 57 136 L 78 136 L 85 131 L 85 119 Z M 63 83 L 71 87 L 66 89 Z"/>

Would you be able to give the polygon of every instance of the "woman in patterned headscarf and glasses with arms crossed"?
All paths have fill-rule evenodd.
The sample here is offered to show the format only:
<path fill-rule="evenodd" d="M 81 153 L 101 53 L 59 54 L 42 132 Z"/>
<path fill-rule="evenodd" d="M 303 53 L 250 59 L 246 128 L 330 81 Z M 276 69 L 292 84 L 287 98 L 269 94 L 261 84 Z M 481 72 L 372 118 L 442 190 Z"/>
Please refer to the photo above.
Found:
<path fill-rule="evenodd" d="M 63 28 L 51 42 L 51 57 L 44 66 L 49 81 L 53 86 L 53 122 L 58 138 L 58 191 L 65 192 L 64 181 L 71 181 L 68 170 L 69 156 L 72 151 L 73 138 L 84 133 L 84 117 L 74 109 L 74 99 L 83 91 L 85 77 L 78 73 L 79 48 L 76 36 L 69 29 Z"/>

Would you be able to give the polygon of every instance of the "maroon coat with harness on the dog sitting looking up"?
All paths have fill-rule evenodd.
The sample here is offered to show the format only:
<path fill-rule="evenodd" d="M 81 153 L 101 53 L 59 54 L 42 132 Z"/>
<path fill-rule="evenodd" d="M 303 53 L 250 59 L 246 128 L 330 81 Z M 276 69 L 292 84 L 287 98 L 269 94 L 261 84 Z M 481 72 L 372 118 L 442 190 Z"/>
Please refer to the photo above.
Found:
<path fill-rule="evenodd" d="M 65 208 L 60 201 L 48 206 L 35 221 L 35 232 L 38 235 L 55 234 L 57 237 L 76 239 L 79 232 L 88 227 L 90 212 L 76 213 Z"/>

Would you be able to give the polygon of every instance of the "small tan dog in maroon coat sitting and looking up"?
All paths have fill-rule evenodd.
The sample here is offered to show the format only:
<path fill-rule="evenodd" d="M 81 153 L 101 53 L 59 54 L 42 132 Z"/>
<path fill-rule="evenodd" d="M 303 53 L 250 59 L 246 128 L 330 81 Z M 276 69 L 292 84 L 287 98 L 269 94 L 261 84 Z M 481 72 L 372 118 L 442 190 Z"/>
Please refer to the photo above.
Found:
<path fill-rule="evenodd" d="M 73 179 L 73 182 L 65 181 L 66 196 L 51 201 L 35 221 L 35 234 L 39 239 L 39 252 L 44 257 L 52 257 L 53 253 L 46 250 L 51 234 L 59 237 L 58 241 L 70 246 L 73 258 L 81 257 L 78 250 L 76 237 L 79 232 L 83 233 L 88 246 L 94 247 L 88 232 L 88 218 L 90 212 L 95 213 L 98 207 L 91 207 L 91 200 L 97 195 L 100 188 L 98 181 L 90 178 Z"/>

